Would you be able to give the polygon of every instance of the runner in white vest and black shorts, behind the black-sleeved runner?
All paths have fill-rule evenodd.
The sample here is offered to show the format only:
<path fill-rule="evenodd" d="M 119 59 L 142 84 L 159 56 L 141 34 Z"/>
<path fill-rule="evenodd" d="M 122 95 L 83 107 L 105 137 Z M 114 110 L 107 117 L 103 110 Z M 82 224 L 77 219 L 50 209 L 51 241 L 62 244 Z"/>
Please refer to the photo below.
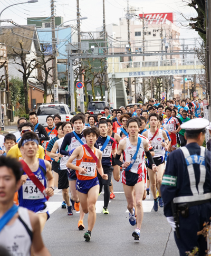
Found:
<path fill-rule="evenodd" d="M 69 134 L 72 131 L 70 122 L 63 122 L 61 128 L 62 128 L 62 131 L 64 132 L 64 136 L 66 134 Z M 58 169 L 58 175 L 59 175 L 58 189 L 62 189 L 62 196 L 63 196 L 63 199 L 68 208 L 68 215 L 73 215 L 72 205 L 70 204 L 70 196 L 69 196 L 69 189 L 68 189 L 69 182 L 68 182 L 67 167 L 66 167 L 66 163 L 68 162 L 69 157 L 61 154 L 61 145 L 62 145 L 63 139 L 64 139 L 64 137 L 61 137 L 60 139 L 58 139 L 54 142 L 53 148 L 50 153 L 50 157 L 60 158 L 60 162 L 59 162 L 60 165 L 59 165 L 59 169 Z M 57 150 L 59 150 L 59 153 L 56 153 Z M 69 152 L 67 152 L 67 153 L 69 153 Z M 57 160 L 57 158 L 56 158 L 56 160 Z M 64 206 L 64 203 L 62 203 L 61 207 L 66 208 Z"/>

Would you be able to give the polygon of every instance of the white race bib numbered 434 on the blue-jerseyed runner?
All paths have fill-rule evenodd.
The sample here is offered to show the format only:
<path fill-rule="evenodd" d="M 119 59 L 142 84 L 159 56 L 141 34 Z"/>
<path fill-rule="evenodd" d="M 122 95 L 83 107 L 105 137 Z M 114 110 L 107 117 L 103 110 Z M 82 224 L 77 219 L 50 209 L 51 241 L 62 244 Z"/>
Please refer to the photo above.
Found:
<path fill-rule="evenodd" d="M 44 185 L 44 179 L 39 179 L 39 181 Z M 22 186 L 23 199 L 36 200 L 44 198 L 43 193 L 37 188 L 32 181 L 26 181 Z"/>

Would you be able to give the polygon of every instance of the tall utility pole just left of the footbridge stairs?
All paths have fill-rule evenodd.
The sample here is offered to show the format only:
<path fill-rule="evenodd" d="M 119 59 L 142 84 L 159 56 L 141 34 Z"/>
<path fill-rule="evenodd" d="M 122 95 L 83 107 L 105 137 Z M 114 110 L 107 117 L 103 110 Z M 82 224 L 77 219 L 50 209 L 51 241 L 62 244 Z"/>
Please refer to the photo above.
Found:
<path fill-rule="evenodd" d="M 103 5 L 103 41 L 104 41 L 104 53 L 107 53 L 107 34 L 105 29 L 105 0 L 102 0 Z M 108 76 L 107 76 L 107 59 L 104 59 L 104 82 L 105 82 L 105 102 L 108 102 Z"/>

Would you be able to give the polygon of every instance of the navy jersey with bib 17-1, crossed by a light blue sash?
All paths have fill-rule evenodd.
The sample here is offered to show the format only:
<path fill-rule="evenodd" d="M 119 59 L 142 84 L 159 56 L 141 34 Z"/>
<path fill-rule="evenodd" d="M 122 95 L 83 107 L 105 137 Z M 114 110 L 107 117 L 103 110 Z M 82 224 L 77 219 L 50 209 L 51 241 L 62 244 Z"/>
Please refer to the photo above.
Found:
<path fill-rule="evenodd" d="M 105 140 L 107 137 L 100 136 L 96 143 L 98 144 L 98 148 L 100 149 L 103 144 L 105 143 Z M 113 147 L 114 144 L 114 147 Z M 111 151 L 112 148 L 115 148 L 114 139 L 110 137 L 109 143 L 105 147 L 105 149 L 102 151 L 102 165 L 111 166 Z"/>

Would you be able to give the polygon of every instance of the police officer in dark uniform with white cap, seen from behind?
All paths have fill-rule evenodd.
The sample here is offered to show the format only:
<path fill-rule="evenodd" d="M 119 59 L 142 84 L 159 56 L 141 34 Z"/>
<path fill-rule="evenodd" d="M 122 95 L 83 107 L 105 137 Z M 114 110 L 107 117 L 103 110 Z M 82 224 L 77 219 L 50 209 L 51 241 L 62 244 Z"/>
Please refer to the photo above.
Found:
<path fill-rule="evenodd" d="M 198 248 L 205 255 L 206 238 L 197 235 L 211 216 L 210 151 L 202 147 L 206 126 L 204 118 L 191 119 L 181 125 L 187 145 L 167 158 L 161 193 L 164 214 L 174 230 L 180 255 Z"/>

